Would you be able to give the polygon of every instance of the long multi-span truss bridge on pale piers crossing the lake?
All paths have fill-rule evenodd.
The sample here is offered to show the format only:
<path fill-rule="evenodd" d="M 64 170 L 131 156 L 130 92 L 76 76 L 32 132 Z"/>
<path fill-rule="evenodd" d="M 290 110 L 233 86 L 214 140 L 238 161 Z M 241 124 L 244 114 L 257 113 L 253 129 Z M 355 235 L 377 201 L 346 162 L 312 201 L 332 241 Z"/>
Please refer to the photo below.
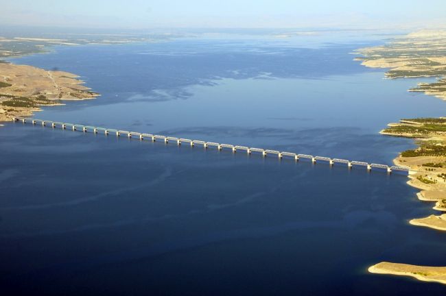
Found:
<path fill-rule="evenodd" d="M 139 140 L 143 140 L 145 138 L 150 138 L 153 142 L 156 140 L 161 140 L 164 143 L 174 142 L 177 145 L 181 145 L 182 143 L 189 143 L 191 147 L 195 145 L 200 145 L 204 147 L 205 149 L 208 149 L 209 147 L 216 147 L 218 151 L 221 151 L 223 149 L 231 149 L 233 153 L 237 151 L 246 151 L 249 155 L 253 152 L 259 152 L 263 157 L 266 156 L 275 156 L 279 159 L 289 157 L 296 161 L 299 160 L 299 158 L 306 158 L 308 160 L 311 160 L 314 164 L 316 162 L 326 162 L 330 166 L 333 166 L 335 164 L 345 164 L 349 169 L 353 167 L 364 167 L 367 171 L 386 171 L 387 173 L 392 172 L 402 172 L 402 173 L 409 173 L 409 169 L 406 167 L 396 167 L 391 166 L 389 167 L 386 164 L 369 164 L 368 162 L 358 162 L 355 160 L 344 160 L 339 158 L 328 158 L 325 156 L 311 156 L 307 154 L 296 154 L 292 152 L 285 152 L 285 151 L 277 151 L 277 150 L 270 150 L 270 149 L 261 149 L 261 148 L 253 148 L 253 147 L 246 147 L 246 146 L 239 146 L 239 145 L 231 145 L 231 144 L 220 144 L 220 143 L 214 143 L 214 142 L 207 142 L 203 140 L 190 140 L 187 138 L 176 138 L 172 136 L 161 136 L 161 135 L 154 135 L 154 134 L 141 134 L 139 132 L 128 132 L 124 130 L 115 130 L 115 129 L 108 129 L 105 127 L 93 127 L 89 125 L 80 125 L 80 124 L 73 124 L 73 123 L 62 123 L 57 121 L 45 121 L 41 119 L 32 119 L 32 118 L 14 118 L 14 122 L 21 121 L 23 123 L 32 123 L 33 125 L 40 124 L 44 127 L 52 127 L 57 128 L 60 127 L 62 130 L 67 130 L 67 127 L 71 127 L 71 130 L 73 131 L 82 131 L 84 133 L 86 132 L 93 132 L 94 134 L 98 134 L 99 132 L 104 133 L 104 135 L 108 136 L 109 134 L 115 134 L 116 136 L 125 136 L 127 138 L 139 138 Z"/>

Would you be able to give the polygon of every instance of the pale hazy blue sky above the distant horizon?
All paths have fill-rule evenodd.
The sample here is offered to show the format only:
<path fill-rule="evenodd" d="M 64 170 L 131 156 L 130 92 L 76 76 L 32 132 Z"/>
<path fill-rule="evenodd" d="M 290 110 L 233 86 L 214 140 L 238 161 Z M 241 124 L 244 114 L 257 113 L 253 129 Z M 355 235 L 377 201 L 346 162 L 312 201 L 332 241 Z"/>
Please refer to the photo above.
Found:
<path fill-rule="evenodd" d="M 0 25 L 127 29 L 446 27 L 446 0 L 1 0 Z"/>

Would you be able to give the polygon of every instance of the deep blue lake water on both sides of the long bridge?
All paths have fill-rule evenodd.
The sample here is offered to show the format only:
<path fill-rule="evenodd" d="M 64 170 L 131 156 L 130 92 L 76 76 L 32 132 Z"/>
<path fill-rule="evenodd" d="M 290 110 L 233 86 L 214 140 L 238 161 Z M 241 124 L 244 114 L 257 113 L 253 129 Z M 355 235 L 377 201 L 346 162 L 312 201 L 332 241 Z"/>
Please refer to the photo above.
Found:
<path fill-rule="evenodd" d="M 384 36 L 195 38 L 56 47 L 13 60 L 101 93 L 36 118 L 388 163 L 388 122 L 443 102 L 351 51 Z M 312 40 L 309 42 L 309 40 Z M 432 79 L 425 79 L 431 81 Z M 8 123 L 0 130 L 0 284 L 16 295 L 443 295 L 372 275 L 446 266 L 445 234 L 403 175 Z M 14 293 L 11 293 L 14 295 Z"/>

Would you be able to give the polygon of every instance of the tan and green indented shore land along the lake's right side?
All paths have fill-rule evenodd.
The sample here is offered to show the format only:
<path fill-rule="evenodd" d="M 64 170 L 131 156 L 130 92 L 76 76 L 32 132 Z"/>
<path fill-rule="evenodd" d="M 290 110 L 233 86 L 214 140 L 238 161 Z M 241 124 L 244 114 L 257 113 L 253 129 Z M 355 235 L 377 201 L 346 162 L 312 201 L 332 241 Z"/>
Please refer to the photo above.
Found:
<path fill-rule="evenodd" d="M 364 66 L 389 68 L 388 79 L 438 77 L 436 82 L 419 83 L 409 91 L 446 99 L 446 31 L 423 30 L 356 53 L 361 57 L 355 60 Z M 446 118 L 401 119 L 390 123 L 381 134 L 416 139 L 418 147 L 401 152 L 394 162 L 410 169 L 408 184 L 421 189 L 417 194 L 421 201 L 432 201 L 434 210 L 446 211 Z M 410 224 L 446 231 L 446 214 L 414 218 Z M 446 284 L 446 267 L 381 262 L 368 271 Z"/>

